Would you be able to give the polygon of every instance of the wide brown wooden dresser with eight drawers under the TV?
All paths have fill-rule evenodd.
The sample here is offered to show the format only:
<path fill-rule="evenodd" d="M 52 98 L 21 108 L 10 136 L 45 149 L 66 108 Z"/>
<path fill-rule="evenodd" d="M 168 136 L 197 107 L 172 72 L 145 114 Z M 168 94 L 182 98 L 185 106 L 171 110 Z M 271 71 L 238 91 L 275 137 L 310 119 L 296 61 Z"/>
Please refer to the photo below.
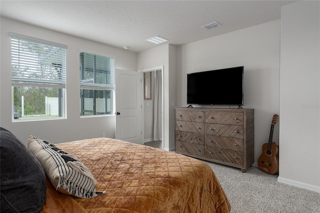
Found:
<path fill-rule="evenodd" d="M 254 109 L 175 108 L 175 152 L 242 172 L 254 160 Z"/>

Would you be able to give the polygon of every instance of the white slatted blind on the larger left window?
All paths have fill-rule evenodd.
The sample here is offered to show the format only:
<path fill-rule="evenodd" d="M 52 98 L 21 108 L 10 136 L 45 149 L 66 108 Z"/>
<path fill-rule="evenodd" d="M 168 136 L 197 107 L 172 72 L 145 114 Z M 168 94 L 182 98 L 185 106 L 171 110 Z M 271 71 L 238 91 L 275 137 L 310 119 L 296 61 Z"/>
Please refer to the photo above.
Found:
<path fill-rule="evenodd" d="M 66 45 L 15 33 L 9 35 L 13 86 L 65 88 Z"/>

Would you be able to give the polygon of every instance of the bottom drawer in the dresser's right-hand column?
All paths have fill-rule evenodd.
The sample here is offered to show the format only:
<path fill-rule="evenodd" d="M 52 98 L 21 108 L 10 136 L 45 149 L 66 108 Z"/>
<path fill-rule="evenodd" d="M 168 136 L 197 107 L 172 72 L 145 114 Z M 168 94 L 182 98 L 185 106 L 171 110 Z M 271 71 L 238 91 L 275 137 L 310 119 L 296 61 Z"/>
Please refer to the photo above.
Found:
<path fill-rule="evenodd" d="M 238 165 L 243 165 L 243 152 L 240 151 L 206 147 L 205 157 Z"/>

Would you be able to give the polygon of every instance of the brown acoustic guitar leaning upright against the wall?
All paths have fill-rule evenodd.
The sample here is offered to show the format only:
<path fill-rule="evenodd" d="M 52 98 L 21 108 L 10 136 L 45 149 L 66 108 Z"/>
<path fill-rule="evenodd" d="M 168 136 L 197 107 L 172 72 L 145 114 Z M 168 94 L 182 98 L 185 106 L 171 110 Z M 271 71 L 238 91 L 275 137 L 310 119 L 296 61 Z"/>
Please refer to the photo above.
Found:
<path fill-rule="evenodd" d="M 279 173 L 279 146 L 272 142 L 274 124 L 278 115 L 274 114 L 271 122 L 269 141 L 262 145 L 262 153 L 258 158 L 259 168 L 268 174 Z"/>

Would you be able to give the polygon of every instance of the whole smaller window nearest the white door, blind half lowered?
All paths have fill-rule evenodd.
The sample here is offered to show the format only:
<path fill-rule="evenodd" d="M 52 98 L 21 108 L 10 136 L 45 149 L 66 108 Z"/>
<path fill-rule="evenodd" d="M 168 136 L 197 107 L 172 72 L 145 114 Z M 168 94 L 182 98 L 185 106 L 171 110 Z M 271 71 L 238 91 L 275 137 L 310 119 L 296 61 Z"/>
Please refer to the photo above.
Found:
<path fill-rule="evenodd" d="M 114 58 L 80 52 L 80 115 L 111 114 Z"/>

